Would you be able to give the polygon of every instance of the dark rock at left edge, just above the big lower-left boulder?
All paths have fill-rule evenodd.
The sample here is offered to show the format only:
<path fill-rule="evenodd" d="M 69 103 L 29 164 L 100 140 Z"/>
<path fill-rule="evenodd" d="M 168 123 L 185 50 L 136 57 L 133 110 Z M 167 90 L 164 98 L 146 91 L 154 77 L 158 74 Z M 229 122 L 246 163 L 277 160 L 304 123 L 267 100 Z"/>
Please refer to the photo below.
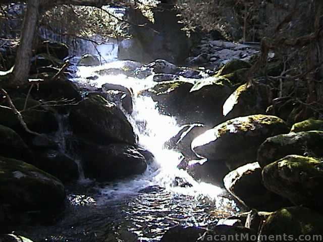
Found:
<path fill-rule="evenodd" d="M 0 125 L 0 155 L 32 161 L 33 155 L 22 138 L 12 129 Z"/>

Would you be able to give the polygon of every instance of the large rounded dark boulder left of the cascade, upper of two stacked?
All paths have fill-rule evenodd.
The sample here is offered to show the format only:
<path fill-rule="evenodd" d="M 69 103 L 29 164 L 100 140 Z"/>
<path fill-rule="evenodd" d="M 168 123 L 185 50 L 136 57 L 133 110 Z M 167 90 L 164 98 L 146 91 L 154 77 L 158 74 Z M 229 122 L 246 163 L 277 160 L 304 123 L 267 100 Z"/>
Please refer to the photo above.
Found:
<path fill-rule="evenodd" d="M 134 145 L 137 137 L 122 110 L 101 96 L 85 98 L 70 113 L 72 131 L 98 144 Z"/>

